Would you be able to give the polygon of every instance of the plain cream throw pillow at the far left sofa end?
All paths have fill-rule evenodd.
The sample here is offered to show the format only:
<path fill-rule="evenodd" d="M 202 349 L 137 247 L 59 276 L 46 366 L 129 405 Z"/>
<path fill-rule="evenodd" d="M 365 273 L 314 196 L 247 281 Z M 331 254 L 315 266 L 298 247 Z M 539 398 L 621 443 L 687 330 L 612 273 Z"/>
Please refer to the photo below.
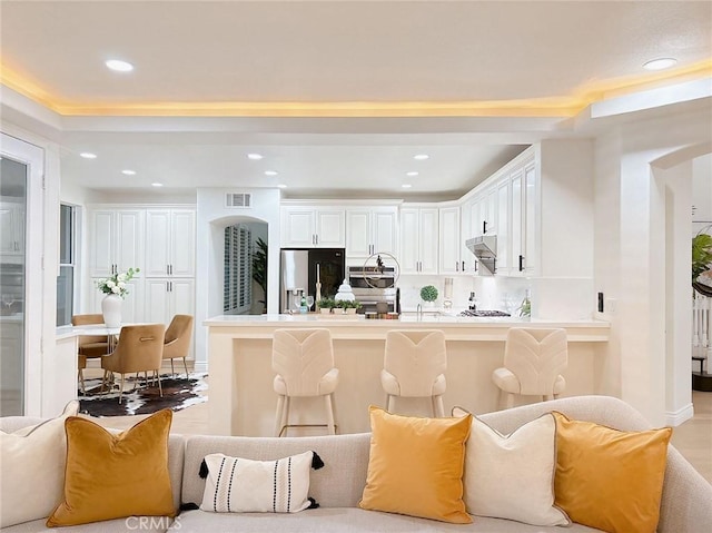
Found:
<path fill-rule="evenodd" d="M 79 402 L 72 399 L 57 418 L 14 433 L 0 432 L 0 529 L 46 519 L 62 499 L 65 420 L 78 411 Z"/>

